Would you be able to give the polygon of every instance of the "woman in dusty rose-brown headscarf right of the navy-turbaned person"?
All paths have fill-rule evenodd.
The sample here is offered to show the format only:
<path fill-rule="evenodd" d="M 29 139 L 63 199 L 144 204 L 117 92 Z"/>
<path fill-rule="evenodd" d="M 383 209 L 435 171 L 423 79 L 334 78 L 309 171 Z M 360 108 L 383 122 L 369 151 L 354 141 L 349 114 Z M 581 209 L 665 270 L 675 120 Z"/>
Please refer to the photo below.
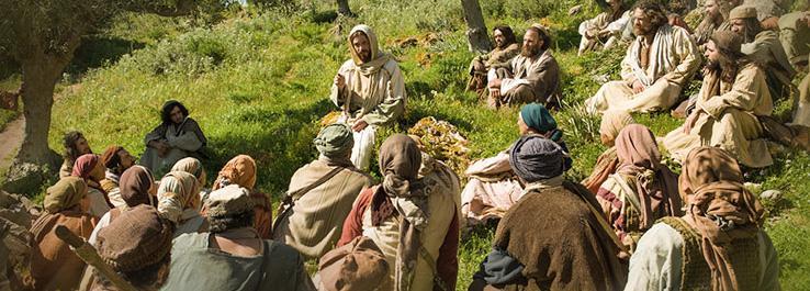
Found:
<path fill-rule="evenodd" d="M 616 137 L 619 165 L 596 199 L 622 242 L 632 250 L 644 231 L 664 216 L 679 216 L 677 176 L 661 164 L 655 136 L 644 125 L 627 125 Z"/>

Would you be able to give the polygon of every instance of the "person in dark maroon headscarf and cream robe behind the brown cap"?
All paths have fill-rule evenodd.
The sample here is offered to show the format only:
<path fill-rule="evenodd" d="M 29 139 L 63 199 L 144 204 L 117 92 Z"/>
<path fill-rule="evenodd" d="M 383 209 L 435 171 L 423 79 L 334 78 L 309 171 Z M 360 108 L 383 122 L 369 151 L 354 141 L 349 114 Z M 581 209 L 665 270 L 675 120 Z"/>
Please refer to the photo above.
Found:
<path fill-rule="evenodd" d="M 106 227 L 116 220 L 122 213 L 132 210 L 138 205 L 157 205 L 155 198 L 155 178 L 151 177 L 151 172 L 144 166 L 132 166 L 121 175 L 121 200 L 124 202 L 123 205 L 111 209 L 99 220 L 95 224 L 90 238 L 87 239 L 93 246 L 98 246 L 99 233 L 102 228 Z M 81 287 L 79 290 L 89 290 L 90 283 L 95 280 L 93 278 L 93 268 L 88 266 L 88 270 L 85 271 L 85 277 L 81 279 Z"/>

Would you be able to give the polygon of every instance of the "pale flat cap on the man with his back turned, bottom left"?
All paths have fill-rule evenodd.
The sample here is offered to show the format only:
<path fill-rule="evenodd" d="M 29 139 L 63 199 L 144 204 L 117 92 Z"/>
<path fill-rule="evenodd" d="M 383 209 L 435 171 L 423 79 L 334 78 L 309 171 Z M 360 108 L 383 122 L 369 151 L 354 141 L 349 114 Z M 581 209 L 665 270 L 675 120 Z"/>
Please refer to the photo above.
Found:
<path fill-rule="evenodd" d="M 238 184 L 228 184 L 211 192 L 205 200 L 205 209 L 211 217 L 229 216 L 254 211 L 254 202 L 247 189 Z"/>

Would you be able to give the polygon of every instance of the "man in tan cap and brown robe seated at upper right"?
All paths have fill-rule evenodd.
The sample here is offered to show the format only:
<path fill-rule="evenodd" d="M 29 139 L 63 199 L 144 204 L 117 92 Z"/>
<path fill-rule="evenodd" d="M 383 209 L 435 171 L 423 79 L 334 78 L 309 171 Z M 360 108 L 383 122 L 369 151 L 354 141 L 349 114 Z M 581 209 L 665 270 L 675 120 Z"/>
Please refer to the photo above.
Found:
<path fill-rule="evenodd" d="M 763 30 L 753 7 L 738 7 L 729 14 L 731 31 L 742 36 L 742 53 L 765 65 L 768 88 L 774 98 L 787 98 L 796 70 L 779 42 L 779 33 Z"/>

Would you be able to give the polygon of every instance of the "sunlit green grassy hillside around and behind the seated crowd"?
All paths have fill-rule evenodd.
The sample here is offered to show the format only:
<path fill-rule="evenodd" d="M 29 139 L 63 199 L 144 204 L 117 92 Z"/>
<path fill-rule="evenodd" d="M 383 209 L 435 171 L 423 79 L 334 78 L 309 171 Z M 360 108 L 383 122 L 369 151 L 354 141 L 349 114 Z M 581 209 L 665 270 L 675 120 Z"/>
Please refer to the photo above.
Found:
<path fill-rule="evenodd" d="M 576 1 L 481 2 L 490 27 L 507 23 L 520 35 L 533 22 L 551 27 L 567 104 L 555 117 L 575 160 L 569 176 L 582 179 L 605 148 L 597 142 L 598 117 L 584 115 L 578 104 L 598 89 L 594 75 L 616 78 L 622 52 L 576 56 L 576 25 L 596 13 L 586 5 L 578 15 L 564 14 Z M 466 49 L 458 1 L 351 3 L 358 19 L 333 21 L 326 3 L 292 14 L 230 12 L 216 24 L 124 18 L 97 38 L 104 40 L 103 45 L 86 51 L 88 58 L 98 51 L 117 53 L 76 66 L 74 81 L 78 82 L 54 107 L 50 146 L 60 148 L 61 133 L 80 130 L 97 153 L 120 144 L 139 155 L 143 136 L 158 123 L 160 105 L 177 99 L 209 137 L 209 174 L 215 175 L 237 154 L 251 155 L 260 168 L 258 188 L 278 201 L 294 170 L 316 157 L 311 142 L 318 120 L 336 110 L 327 99 L 328 90 L 338 66 L 348 58 L 346 33 L 356 23 L 376 30 L 381 46 L 394 54 L 406 76 L 406 116 L 384 131 L 380 141 L 425 116 L 458 126 L 470 141 L 471 158 L 493 155 L 518 136 L 516 109 L 487 110 L 484 102 L 463 92 L 473 54 Z M 408 37 L 416 42 L 405 42 Z M 789 105 L 779 108 L 785 111 Z M 667 114 L 635 117 L 657 135 L 679 125 Z M 810 157 L 785 152 L 776 160 L 774 167 L 750 172 L 749 178 L 763 183 L 763 189 L 784 191 L 781 202 L 768 204 L 778 217 L 768 221 L 767 231 L 780 255 L 783 288 L 810 290 Z M 492 232 L 474 230 L 462 242 L 459 290 L 465 290 L 488 250 Z"/>

